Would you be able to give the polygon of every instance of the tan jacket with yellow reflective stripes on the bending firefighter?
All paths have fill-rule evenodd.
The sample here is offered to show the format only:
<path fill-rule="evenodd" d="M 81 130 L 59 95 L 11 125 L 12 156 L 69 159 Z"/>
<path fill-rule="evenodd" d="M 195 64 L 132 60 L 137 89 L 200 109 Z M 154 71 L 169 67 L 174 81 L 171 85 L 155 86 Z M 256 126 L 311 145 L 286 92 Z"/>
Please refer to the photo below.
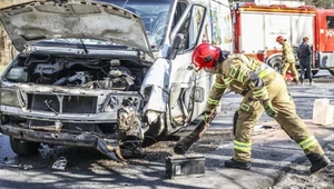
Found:
<path fill-rule="evenodd" d="M 266 86 L 257 86 L 253 82 L 254 78 L 252 77 L 257 76 L 263 79 L 271 72 L 274 72 L 274 70 L 259 60 L 244 54 L 228 56 L 228 59 L 219 63 L 216 69 L 216 81 L 207 101 L 207 110 L 214 109 L 219 103 L 227 88 L 240 94 L 252 90 L 253 98 L 267 99 Z"/>

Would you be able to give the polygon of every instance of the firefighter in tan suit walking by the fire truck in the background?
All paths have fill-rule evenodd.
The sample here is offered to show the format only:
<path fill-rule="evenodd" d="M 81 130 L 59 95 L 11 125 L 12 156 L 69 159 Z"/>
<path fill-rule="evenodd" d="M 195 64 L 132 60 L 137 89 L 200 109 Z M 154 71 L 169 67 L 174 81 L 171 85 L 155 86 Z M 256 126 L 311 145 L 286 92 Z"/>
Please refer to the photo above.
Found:
<path fill-rule="evenodd" d="M 283 78 L 285 79 L 286 72 L 291 71 L 294 77 L 294 81 L 296 83 L 298 83 L 298 72 L 296 70 L 296 60 L 295 60 L 295 56 L 294 56 L 292 48 L 287 44 L 286 39 L 283 36 L 278 36 L 276 38 L 276 42 L 282 44 L 282 50 L 283 50 L 283 54 L 282 54 L 283 66 L 281 69 L 281 73 L 282 73 Z"/>

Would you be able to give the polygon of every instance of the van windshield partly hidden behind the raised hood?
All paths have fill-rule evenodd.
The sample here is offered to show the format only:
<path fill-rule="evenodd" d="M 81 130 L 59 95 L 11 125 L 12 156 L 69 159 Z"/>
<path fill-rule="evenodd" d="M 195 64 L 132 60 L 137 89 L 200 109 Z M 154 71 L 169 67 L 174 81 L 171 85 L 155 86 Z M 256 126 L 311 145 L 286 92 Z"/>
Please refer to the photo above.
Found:
<path fill-rule="evenodd" d="M 125 8 L 143 19 L 153 49 L 163 44 L 174 0 L 96 0 Z"/>

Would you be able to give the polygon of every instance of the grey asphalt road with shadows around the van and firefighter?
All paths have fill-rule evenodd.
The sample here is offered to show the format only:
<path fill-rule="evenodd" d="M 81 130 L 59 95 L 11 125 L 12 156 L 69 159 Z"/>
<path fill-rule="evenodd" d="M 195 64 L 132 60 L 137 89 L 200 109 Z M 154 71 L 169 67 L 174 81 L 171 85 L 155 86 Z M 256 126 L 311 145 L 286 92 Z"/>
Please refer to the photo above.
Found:
<path fill-rule="evenodd" d="M 327 71 L 321 71 L 313 87 L 289 86 L 297 113 L 312 128 L 323 146 L 333 140 L 334 127 L 314 126 L 310 120 L 315 99 L 328 98 L 334 105 L 333 83 L 334 77 Z M 239 101 L 240 97 L 233 93 L 224 97 L 223 110 L 206 135 L 217 130 L 230 132 L 232 116 Z M 262 126 L 272 128 L 264 129 Z M 106 160 L 106 157 L 96 150 L 72 147 L 43 147 L 39 155 L 21 158 L 11 151 L 8 137 L 0 135 L 0 188 L 257 189 L 273 186 L 284 170 L 293 168 L 292 163 L 305 160 L 298 146 L 265 115 L 255 127 L 253 167 L 249 171 L 223 167 L 224 160 L 232 156 L 233 143 L 232 140 L 224 139 L 216 142 L 219 143 L 218 148 L 205 152 L 205 177 L 169 180 L 165 178 L 165 162 L 161 160 L 134 161 L 124 166 Z M 167 147 L 173 147 L 174 143 L 175 141 L 169 141 Z M 68 160 L 66 170 L 51 169 L 52 162 L 60 156 Z"/>

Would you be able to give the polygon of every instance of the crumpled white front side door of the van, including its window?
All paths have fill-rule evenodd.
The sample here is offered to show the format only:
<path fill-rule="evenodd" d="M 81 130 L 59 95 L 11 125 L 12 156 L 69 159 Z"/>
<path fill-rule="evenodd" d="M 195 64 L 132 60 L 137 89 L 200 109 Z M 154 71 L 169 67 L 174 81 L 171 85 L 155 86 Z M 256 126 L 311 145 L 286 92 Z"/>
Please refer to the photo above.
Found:
<path fill-rule="evenodd" d="M 169 105 L 167 118 L 169 117 L 173 127 L 188 123 L 194 112 L 195 103 L 205 103 L 203 94 L 208 92 L 208 89 L 196 89 L 198 79 L 208 82 L 207 76 L 200 74 L 205 78 L 199 78 L 196 76 L 195 70 L 191 69 L 191 54 L 195 47 L 202 42 L 205 14 L 205 6 L 189 4 L 173 31 L 174 34 L 184 36 L 184 41 L 177 57 L 169 62 Z M 209 83 L 203 83 L 203 86 L 209 86 Z M 202 96 L 194 99 L 194 94 L 198 93 L 199 90 Z"/>

